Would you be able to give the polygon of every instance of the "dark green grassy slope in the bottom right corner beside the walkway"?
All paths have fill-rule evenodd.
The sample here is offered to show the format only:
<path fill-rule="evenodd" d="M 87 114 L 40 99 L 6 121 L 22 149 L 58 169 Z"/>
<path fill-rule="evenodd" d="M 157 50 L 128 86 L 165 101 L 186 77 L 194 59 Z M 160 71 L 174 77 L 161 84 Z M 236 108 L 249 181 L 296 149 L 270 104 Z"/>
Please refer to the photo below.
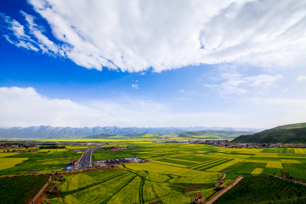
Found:
<path fill-rule="evenodd" d="M 214 204 L 305 203 L 306 187 L 274 176 L 249 176 L 220 196 Z"/>

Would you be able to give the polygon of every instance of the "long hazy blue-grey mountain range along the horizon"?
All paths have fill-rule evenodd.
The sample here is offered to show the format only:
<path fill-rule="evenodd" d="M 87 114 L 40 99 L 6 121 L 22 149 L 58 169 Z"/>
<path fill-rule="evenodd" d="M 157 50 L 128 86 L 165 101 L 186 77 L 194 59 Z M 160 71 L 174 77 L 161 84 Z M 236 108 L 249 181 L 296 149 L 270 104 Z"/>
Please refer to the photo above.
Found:
<path fill-rule="evenodd" d="M 180 135 L 186 131 L 230 131 L 230 132 L 260 132 L 265 130 L 265 128 L 233 128 L 233 127 L 163 127 L 163 128 L 137 128 L 137 127 L 127 127 L 121 128 L 118 126 L 106 126 L 106 127 L 84 127 L 84 128 L 72 128 L 72 127 L 52 127 L 50 125 L 40 125 L 40 126 L 30 126 L 27 128 L 13 127 L 8 129 L 0 128 L 0 138 L 49 138 L 52 139 L 73 139 L 80 138 L 83 136 L 90 135 L 128 135 L 128 134 L 143 134 L 143 133 L 159 133 L 163 135 L 176 134 Z"/>

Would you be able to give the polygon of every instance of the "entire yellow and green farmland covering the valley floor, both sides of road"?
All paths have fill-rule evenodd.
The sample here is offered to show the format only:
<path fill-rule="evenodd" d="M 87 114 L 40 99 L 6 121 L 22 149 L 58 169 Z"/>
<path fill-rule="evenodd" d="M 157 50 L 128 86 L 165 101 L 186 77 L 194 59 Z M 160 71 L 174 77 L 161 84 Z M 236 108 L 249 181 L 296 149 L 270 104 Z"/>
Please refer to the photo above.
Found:
<path fill-rule="evenodd" d="M 217 171 L 227 172 L 226 179 L 229 180 L 226 183 L 237 176 L 278 175 L 283 169 L 295 179 L 306 179 L 306 149 L 232 149 L 203 144 L 152 142 L 109 143 L 102 147 L 125 149 L 111 151 L 99 148 L 94 151 L 93 160 L 138 156 L 149 162 L 120 165 L 123 170 L 65 175 L 65 181 L 58 182 L 61 186 L 59 197 L 48 195 L 52 201 L 48 202 L 138 204 L 163 200 L 167 204 L 189 203 L 190 197 L 198 191 L 202 191 L 206 197 L 215 193 L 215 182 L 211 180 L 217 179 Z M 0 175 L 60 171 L 80 157 L 81 153 L 74 150 L 83 148 L 88 147 L 67 146 L 67 149 L 50 152 L 0 153 Z"/>

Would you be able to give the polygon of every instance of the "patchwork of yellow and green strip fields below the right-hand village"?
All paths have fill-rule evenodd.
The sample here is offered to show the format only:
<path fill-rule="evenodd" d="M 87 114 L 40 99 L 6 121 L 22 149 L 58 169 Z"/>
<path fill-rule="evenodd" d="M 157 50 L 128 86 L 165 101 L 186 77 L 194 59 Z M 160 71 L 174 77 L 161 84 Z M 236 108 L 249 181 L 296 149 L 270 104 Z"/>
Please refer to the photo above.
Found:
<path fill-rule="evenodd" d="M 294 178 L 306 178 L 304 149 L 230 149 L 219 148 L 205 154 L 194 154 L 150 162 L 203 171 L 227 172 L 228 178 L 250 174 L 280 174 L 287 170 Z"/>

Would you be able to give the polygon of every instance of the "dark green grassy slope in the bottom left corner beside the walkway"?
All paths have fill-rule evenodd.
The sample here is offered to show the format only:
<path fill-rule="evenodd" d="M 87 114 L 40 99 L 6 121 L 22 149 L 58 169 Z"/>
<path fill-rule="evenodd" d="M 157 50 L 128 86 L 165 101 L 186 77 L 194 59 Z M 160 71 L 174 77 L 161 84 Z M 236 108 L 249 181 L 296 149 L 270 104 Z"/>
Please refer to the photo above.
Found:
<path fill-rule="evenodd" d="M 0 204 L 20 204 L 32 199 L 50 175 L 0 178 Z"/>

